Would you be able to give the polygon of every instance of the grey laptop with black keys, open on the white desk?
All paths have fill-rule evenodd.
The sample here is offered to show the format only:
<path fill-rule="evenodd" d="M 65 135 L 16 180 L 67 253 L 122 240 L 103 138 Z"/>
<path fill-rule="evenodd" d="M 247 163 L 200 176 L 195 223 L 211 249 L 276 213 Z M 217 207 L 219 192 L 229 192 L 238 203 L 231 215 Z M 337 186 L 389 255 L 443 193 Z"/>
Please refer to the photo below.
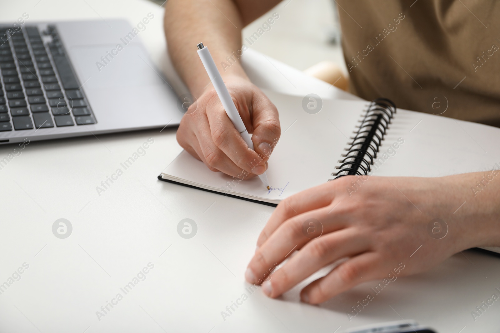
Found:
<path fill-rule="evenodd" d="M 185 110 L 140 32 L 121 19 L 0 23 L 0 144 L 178 125 Z"/>

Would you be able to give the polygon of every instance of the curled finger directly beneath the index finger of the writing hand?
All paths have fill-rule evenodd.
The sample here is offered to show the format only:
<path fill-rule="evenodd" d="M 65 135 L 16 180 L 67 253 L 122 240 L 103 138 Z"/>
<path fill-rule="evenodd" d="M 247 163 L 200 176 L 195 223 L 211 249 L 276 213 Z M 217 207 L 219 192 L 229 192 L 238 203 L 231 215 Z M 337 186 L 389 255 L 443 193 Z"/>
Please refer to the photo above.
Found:
<path fill-rule="evenodd" d="M 209 168 L 214 168 L 232 177 L 245 176 L 247 172 L 235 165 L 212 141 L 208 123 L 203 119 L 203 121 L 198 122 L 197 127 L 195 135 L 201 149 L 203 163 Z"/>

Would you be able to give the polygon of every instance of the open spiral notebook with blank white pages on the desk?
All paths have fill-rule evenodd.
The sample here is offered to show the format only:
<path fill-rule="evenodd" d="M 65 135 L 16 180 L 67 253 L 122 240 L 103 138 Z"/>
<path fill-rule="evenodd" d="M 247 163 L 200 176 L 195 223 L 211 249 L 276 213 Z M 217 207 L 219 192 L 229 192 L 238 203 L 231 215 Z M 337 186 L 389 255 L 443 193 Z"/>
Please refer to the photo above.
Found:
<path fill-rule="evenodd" d="M 275 206 L 347 174 L 437 177 L 500 169 L 496 127 L 396 109 L 387 99 L 321 101 L 265 93 L 281 123 L 266 171 L 270 190 L 257 177 L 242 181 L 212 172 L 186 151 L 158 179 Z"/>

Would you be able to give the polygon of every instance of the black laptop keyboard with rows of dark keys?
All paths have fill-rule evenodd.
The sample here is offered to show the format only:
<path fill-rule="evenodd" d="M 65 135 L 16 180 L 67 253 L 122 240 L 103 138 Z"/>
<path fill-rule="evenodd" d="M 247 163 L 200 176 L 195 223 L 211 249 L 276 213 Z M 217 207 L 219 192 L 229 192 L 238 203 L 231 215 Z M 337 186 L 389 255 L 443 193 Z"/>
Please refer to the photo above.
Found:
<path fill-rule="evenodd" d="M 0 131 L 96 122 L 55 26 L 42 33 L 0 26 Z"/>

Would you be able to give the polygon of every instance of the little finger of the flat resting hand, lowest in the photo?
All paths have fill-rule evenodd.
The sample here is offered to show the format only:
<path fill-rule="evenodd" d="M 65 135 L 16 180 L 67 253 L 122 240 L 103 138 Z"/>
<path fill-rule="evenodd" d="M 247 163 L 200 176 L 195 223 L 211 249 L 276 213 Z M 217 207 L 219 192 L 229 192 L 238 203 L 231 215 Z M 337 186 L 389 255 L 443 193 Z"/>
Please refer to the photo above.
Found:
<path fill-rule="evenodd" d="M 309 304 L 325 302 L 362 282 L 379 278 L 382 275 L 380 270 L 379 255 L 375 252 L 363 253 L 310 283 L 302 289 L 300 299 Z"/>

